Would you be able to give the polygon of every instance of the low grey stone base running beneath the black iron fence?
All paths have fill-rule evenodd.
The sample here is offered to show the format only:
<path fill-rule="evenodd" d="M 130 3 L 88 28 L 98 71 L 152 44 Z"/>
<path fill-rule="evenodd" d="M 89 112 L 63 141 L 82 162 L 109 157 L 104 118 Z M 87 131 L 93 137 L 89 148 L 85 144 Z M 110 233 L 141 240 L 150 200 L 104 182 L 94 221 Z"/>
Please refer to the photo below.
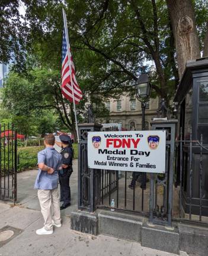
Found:
<path fill-rule="evenodd" d="M 139 242 L 143 247 L 180 254 L 208 255 L 208 228 L 200 223 L 172 223 L 172 228 L 153 225 L 146 217 L 129 212 L 97 210 L 73 212 L 71 229 L 91 235 L 114 236 Z"/>

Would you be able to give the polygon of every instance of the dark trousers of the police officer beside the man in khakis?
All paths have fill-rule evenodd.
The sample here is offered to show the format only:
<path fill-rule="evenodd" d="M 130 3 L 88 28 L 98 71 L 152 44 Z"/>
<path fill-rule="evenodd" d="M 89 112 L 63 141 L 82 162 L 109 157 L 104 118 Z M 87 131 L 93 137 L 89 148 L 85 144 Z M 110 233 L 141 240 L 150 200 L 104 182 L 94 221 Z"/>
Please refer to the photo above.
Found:
<path fill-rule="evenodd" d="M 63 201 L 63 204 L 71 203 L 71 190 L 69 187 L 69 178 L 71 174 L 72 173 L 68 171 L 63 175 L 59 175 L 60 200 Z"/>

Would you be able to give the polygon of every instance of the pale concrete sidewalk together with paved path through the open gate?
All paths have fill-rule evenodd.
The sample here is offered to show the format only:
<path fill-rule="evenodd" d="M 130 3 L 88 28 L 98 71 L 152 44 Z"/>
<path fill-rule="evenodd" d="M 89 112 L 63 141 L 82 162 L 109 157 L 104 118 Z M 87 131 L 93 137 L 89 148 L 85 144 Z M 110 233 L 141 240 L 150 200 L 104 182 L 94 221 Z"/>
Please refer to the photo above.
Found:
<path fill-rule="evenodd" d="M 70 215 L 77 209 L 77 164 L 78 161 L 74 160 L 70 178 L 72 205 L 61 211 L 63 225 L 62 228 L 55 228 L 53 235 L 36 235 L 36 229 L 43 226 L 37 191 L 33 189 L 37 170 L 17 175 L 17 205 L 12 207 L 9 201 L 0 202 L 0 233 L 4 227 L 10 226 L 8 229 L 14 230 L 17 236 L 14 234 L 8 242 L 1 242 L 0 236 L 0 256 L 175 256 L 141 247 L 136 242 L 104 235 L 93 237 L 72 231 Z M 182 252 L 181 255 L 187 254 Z"/>

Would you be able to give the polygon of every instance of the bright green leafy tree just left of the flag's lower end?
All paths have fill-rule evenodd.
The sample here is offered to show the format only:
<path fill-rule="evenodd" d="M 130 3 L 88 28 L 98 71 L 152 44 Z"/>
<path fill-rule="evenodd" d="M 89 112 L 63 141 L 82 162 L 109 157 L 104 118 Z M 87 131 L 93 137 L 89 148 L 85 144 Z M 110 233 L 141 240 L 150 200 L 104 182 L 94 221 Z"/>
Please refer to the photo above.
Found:
<path fill-rule="evenodd" d="M 44 110 L 51 110 L 75 134 L 72 104 L 63 99 L 59 85 L 58 71 L 36 68 L 28 73 L 27 78 L 10 72 L 3 91 L 4 107 L 14 116 L 28 118 L 34 117 L 34 113 L 41 116 Z M 78 113 L 79 110 L 81 109 L 78 108 Z"/>

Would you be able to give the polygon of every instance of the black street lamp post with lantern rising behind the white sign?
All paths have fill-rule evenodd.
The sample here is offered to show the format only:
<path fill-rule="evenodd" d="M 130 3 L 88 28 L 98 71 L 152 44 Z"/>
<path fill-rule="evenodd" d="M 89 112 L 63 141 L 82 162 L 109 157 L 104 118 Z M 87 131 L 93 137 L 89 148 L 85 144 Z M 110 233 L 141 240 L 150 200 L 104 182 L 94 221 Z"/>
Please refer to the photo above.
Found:
<path fill-rule="evenodd" d="M 151 94 L 151 84 L 149 82 L 148 75 L 142 73 L 139 76 L 136 84 L 137 89 L 137 99 L 141 103 L 142 108 L 142 130 L 145 130 L 145 108 L 146 102 L 149 100 L 149 95 Z M 142 210 L 143 210 L 143 190 L 146 189 L 146 172 L 142 172 Z"/>

